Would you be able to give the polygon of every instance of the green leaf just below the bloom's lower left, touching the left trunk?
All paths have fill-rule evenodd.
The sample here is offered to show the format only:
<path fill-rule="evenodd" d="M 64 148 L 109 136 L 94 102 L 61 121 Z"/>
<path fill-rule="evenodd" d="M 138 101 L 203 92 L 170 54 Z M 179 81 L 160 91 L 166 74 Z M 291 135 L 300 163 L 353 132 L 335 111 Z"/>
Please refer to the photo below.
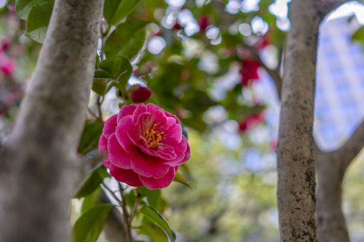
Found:
<path fill-rule="evenodd" d="M 94 190 L 100 187 L 100 184 L 104 180 L 105 177 L 111 177 L 110 174 L 106 172 L 106 168 L 104 166 L 100 166 L 96 170 L 94 170 L 91 174 L 87 175 L 84 182 L 77 190 L 75 198 L 86 197 L 91 194 Z"/>

